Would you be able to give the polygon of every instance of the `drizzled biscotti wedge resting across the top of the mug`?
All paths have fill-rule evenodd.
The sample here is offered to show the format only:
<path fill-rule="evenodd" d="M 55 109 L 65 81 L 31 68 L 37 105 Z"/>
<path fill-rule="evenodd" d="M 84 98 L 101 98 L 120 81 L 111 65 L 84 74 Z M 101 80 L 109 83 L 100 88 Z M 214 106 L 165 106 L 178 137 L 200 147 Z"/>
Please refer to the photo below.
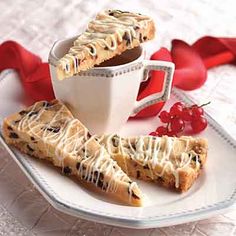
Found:
<path fill-rule="evenodd" d="M 138 13 L 107 10 L 89 22 L 73 46 L 57 63 L 57 78 L 62 80 L 153 39 L 153 20 Z"/>

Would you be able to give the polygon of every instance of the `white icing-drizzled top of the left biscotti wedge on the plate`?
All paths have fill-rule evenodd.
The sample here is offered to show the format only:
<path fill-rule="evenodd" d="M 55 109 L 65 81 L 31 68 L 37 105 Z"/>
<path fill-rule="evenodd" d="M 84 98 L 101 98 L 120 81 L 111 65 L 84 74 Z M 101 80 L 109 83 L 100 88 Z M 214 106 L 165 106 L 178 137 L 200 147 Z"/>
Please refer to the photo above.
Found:
<path fill-rule="evenodd" d="M 137 187 L 137 185 L 134 185 L 116 162 L 109 157 L 105 148 L 94 140 L 96 136 L 90 137 L 88 130 L 72 115 L 69 115 L 64 106 L 58 104 L 48 106 L 47 104 L 46 102 L 35 103 L 18 123 L 18 130 L 29 132 L 35 140 L 42 141 L 47 155 L 53 158 L 56 165 L 64 167 L 65 158 L 71 156 L 80 163 L 77 174 L 84 180 L 98 186 L 102 176 L 102 188 L 109 192 L 116 192 L 117 183 L 124 181 L 129 184 L 132 194 L 132 186 Z M 50 113 L 48 123 L 42 118 L 47 115 L 47 112 Z M 50 153 L 49 145 L 56 146 L 55 153 Z M 93 147 L 91 148 L 90 145 Z"/>

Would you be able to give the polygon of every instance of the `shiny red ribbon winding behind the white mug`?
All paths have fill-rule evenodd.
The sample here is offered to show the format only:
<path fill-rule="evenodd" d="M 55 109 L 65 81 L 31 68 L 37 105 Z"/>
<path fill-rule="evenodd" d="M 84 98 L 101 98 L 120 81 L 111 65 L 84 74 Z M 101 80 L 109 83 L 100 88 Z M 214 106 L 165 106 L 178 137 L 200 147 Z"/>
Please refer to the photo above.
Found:
<path fill-rule="evenodd" d="M 236 62 L 236 39 L 206 36 L 193 45 L 173 40 L 171 51 L 161 48 L 151 56 L 151 60 L 174 62 L 173 86 L 194 90 L 205 83 L 207 69 Z M 43 63 L 41 58 L 17 42 L 7 41 L 0 45 L 0 71 L 4 69 L 18 71 L 26 94 L 35 101 L 54 98 L 48 63 Z M 150 79 L 141 84 L 137 100 L 160 91 L 163 78 L 163 72 L 153 71 Z M 162 102 L 145 108 L 136 118 L 155 116 L 163 105 Z"/>

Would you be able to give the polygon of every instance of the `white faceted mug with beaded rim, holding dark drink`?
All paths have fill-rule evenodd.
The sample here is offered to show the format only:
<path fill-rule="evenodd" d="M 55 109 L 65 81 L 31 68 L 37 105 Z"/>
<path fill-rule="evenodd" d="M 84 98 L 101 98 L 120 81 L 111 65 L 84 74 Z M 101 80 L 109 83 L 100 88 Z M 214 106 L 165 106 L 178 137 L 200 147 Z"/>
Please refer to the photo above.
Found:
<path fill-rule="evenodd" d="M 99 67 L 58 80 L 56 63 L 73 40 L 57 41 L 50 51 L 52 85 L 56 98 L 63 101 L 91 133 L 118 132 L 130 116 L 169 98 L 174 64 L 144 60 L 142 47 L 127 50 Z M 136 101 L 140 83 L 147 80 L 150 70 L 165 72 L 162 91 Z"/>

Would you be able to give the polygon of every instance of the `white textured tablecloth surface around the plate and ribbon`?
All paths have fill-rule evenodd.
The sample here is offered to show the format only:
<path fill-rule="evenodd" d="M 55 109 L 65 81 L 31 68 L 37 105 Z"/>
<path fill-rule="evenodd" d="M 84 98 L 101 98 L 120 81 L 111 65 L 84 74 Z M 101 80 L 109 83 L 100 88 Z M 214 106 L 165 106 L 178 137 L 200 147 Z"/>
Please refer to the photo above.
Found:
<path fill-rule="evenodd" d="M 233 37 L 236 33 L 234 0 L 146 1 L 0 1 L 0 42 L 17 40 L 47 60 L 53 42 L 81 32 L 89 19 L 104 8 L 142 12 L 157 24 L 157 38 L 149 53 L 170 48 L 171 39 L 193 43 L 206 34 Z M 1 76 L 1 75 L 0 75 Z M 188 95 L 199 104 L 212 101 L 207 111 L 236 138 L 236 67 L 211 69 L 205 85 Z M 236 210 L 211 219 L 172 227 L 135 230 L 78 219 L 55 210 L 32 186 L 0 146 L 0 235 L 236 235 Z"/>

